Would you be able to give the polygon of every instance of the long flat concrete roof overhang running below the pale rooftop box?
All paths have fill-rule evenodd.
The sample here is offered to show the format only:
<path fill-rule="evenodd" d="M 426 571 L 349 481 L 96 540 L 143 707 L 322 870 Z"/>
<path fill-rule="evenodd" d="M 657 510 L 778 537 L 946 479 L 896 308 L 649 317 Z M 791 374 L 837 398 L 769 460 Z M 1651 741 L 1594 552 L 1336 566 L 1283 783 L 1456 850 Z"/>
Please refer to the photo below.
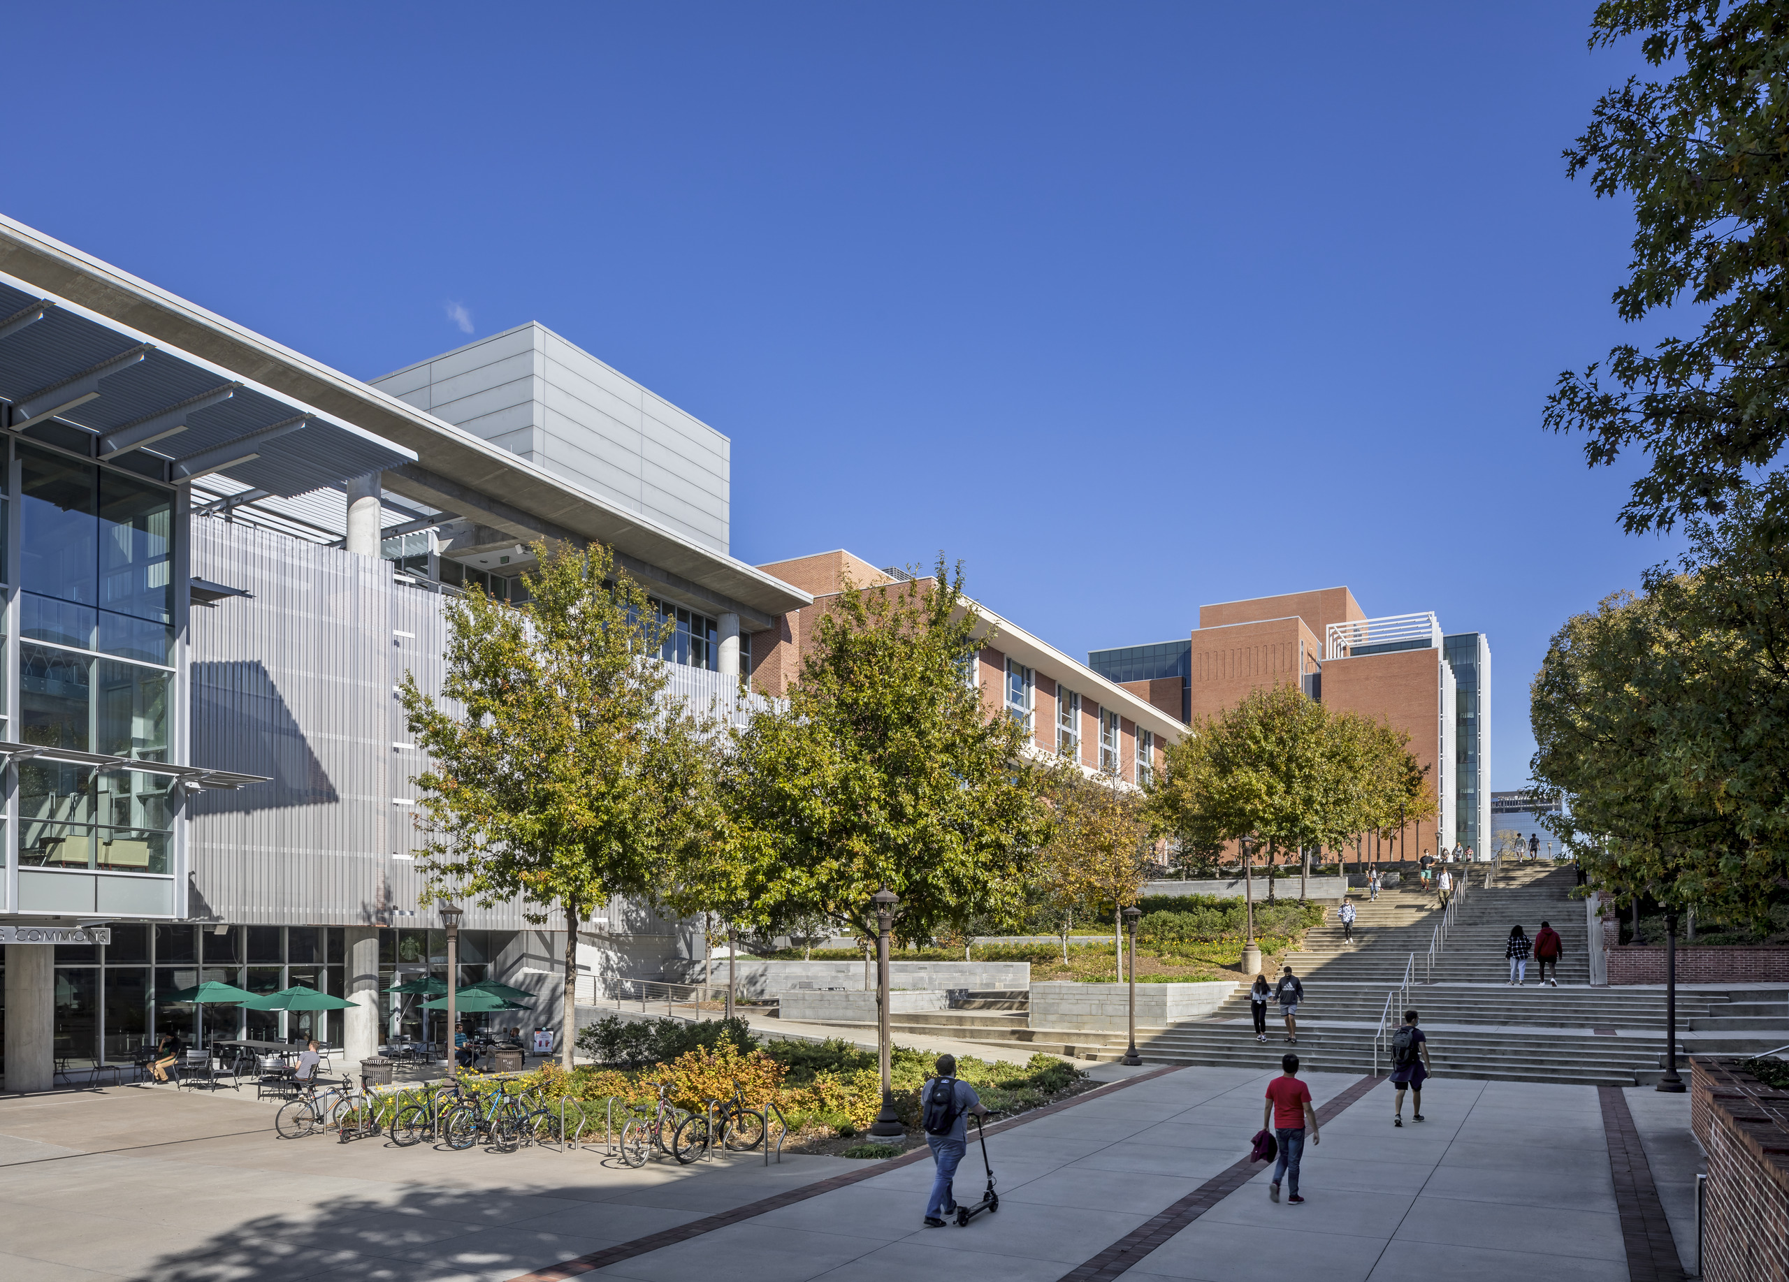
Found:
<path fill-rule="evenodd" d="M 714 611 L 750 617 L 759 631 L 769 628 L 775 615 L 812 603 L 807 592 L 775 576 L 608 504 L 501 445 L 4 215 L 0 272 L 404 445 L 420 467 L 385 474 L 395 493 L 476 515 L 499 529 L 524 520 L 530 533 L 521 542 L 547 536 L 608 544 L 633 561 L 624 561 L 630 574 L 666 585 L 689 583 Z M 437 499 L 431 492 L 453 492 L 454 497 Z M 472 502 L 474 497 L 483 508 Z"/>

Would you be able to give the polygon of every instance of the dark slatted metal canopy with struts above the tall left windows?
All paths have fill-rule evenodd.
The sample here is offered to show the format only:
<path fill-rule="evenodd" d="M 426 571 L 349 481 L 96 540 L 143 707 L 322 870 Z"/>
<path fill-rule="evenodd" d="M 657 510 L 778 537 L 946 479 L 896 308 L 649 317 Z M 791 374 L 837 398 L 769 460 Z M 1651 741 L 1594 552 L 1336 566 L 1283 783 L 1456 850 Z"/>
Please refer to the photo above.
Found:
<path fill-rule="evenodd" d="M 4 274 L 0 399 L 13 431 L 59 420 L 97 436 L 100 460 L 134 451 L 174 485 L 220 472 L 292 497 L 417 458 Z"/>

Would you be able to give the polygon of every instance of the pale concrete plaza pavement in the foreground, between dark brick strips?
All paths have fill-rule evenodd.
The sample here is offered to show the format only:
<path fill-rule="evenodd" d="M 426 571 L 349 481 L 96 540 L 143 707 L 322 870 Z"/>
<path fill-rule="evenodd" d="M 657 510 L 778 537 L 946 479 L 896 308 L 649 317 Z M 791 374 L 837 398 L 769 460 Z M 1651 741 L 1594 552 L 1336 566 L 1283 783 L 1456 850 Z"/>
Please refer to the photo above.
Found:
<path fill-rule="evenodd" d="M 1102 1078 L 1125 1071 L 1100 1066 Z M 1131 1071 L 1136 1075 L 1138 1071 Z M 639 1282 L 927 1277 L 1057 1282 L 1229 1169 L 1272 1075 L 1188 1067 L 989 1137 L 1000 1210 L 925 1228 L 932 1164 L 725 1159 L 633 1171 L 599 1151 L 279 1141 L 270 1105 L 174 1092 L 0 1101 L 0 1277 L 504 1282 L 841 1173 L 866 1178 L 599 1268 Z M 1311 1075 L 1322 1107 L 1360 1078 Z M 1628 1091 L 1685 1257 L 1698 1153 L 1683 1096 Z M 1392 1128 L 1378 1084 L 1308 1146 L 1301 1207 L 1263 1168 L 1136 1259 L 1138 1282 L 1628 1278 L 1596 1087 L 1435 1078 Z M 1689 1178 L 1685 1178 L 1689 1177 Z M 959 1198 L 982 1184 L 971 1148 Z M 1676 1205 L 1673 1207 L 1673 1196 Z M 1682 1216 L 1689 1209 L 1689 1221 Z M 644 1244 L 642 1244 L 644 1246 Z"/>

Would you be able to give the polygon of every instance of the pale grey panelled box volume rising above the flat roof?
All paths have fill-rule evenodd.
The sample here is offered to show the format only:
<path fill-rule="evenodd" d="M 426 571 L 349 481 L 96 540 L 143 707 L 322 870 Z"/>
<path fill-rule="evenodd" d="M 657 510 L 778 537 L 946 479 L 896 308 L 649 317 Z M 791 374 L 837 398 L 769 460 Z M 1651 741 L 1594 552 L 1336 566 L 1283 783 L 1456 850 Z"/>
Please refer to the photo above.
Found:
<path fill-rule="evenodd" d="M 370 383 L 615 506 L 728 551 L 728 438 L 538 322 Z"/>

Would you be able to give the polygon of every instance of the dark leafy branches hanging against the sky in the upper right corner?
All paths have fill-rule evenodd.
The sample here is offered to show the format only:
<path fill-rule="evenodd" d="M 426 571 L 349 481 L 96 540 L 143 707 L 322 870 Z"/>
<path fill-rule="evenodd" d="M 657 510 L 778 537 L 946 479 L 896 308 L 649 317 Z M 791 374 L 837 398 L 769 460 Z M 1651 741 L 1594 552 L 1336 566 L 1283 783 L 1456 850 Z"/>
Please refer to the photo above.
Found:
<path fill-rule="evenodd" d="M 1669 79 L 1605 93 L 1565 152 L 1599 197 L 1630 195 L 1635 234 L 1614 302 L 1642 320 L 1698 306 L 1701 331 L 1565 372 L 1546 424 L 1589 436 L 1585 458 L 1651 460 L 1623 510 L 1630 531 L 1721 513 L 1751 490 L 1782 535 L 1789 483 L 1789 14 L 1769 0 L 1605 0 L 1590 48 L 1641 39 Z"/>

